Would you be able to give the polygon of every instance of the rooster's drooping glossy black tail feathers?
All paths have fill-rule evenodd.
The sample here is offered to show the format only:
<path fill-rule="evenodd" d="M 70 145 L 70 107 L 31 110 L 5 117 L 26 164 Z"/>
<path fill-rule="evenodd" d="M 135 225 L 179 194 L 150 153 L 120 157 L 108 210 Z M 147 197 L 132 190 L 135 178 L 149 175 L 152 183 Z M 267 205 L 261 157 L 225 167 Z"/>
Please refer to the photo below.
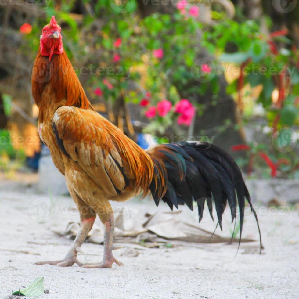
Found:
<path fill-rule="evenodd" d="M 157 206 L 162 199 L 171 210 L 173 206 L 178 208 L 178 204 L 186 204 L 193 211 L 194 200 L 197 203 L 200 222 L 203 218 L 205 202 L 213 219 L 213 199 L 218 224 L 222 229 L 222 214 L 226 203 L 228 202 L 231 210 L 232 222 L 236 219 L 238 204 L 240 246 L 246 198 L 257 221 L 262 248 L 257 214 L 252 206 L 240 168 L 228 153 L 207 142 L 178 142 L 157 146 L 151 149 L 149 155 L 155 165 L 155 179 L 150 185 L 150 191 Z M 164 169 L 160 169 L 162 167 Z M 163 178 L 160 177 L 161 174 L 164 175 Z M 158 185 L 163 182 L 167 186 L 165 194 L 159 193 L 162 188 Z"/>

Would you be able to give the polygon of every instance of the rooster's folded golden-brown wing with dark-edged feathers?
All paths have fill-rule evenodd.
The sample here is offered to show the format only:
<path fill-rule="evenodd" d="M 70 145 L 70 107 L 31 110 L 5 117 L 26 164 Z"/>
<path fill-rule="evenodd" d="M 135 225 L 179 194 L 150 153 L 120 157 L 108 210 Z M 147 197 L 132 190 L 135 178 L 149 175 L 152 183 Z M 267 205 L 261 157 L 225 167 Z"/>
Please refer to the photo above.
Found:
<path fill-rule="evenodd" d="M 111 196 L 129 184 L 113 130 L 119 129 L 93 110 L 63 106 L 54 113 L 53 132 L 60 150 Z"/>

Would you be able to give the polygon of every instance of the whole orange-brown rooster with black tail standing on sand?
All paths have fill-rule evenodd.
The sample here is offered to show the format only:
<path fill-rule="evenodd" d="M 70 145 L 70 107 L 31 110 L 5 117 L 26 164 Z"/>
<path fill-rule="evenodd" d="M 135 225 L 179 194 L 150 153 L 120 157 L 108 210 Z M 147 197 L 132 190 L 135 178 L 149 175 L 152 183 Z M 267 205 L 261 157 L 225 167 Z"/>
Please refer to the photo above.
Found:
<path fill-rule="evenodd" d="M 38 262 L 39 265 L 77 263 L 85 268 L 122 265 L 112 254 L 110 200 L 152 196 L 157 206 L 162 200 L 171 209 L 186 204 L 191 210 L 196 201 L 200 221 L 205 202 L 213 217 L 213 198 L 221 229 L 226 203 L 232 220 L 236 218 L 238 204 L 241 240 L 246 198 L 258 223 L 241 171 L 225 151 L 205 142 L 161 144 L 144 151 L 95 112 L 63 49 L 61 28 L 54 16 L 42 30 L 32 71 L 32 95 L 39 108 L 41 140 L 65 175 L 81 220 L 81 230 L 65 258 Z M 83 265 L 77 252 L 96 215 L 105 225 L 103 261 Z"/>

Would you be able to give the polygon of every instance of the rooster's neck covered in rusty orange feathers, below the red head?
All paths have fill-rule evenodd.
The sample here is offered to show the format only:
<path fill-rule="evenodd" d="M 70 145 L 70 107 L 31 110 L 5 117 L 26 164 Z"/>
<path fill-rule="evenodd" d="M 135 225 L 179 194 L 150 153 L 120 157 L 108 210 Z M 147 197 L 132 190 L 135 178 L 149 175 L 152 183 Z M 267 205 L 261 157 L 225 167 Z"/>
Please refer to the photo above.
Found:
<path fill-rule="evenodd" d="M 52 106 L 92 109 L 64 50 L 62 54 L 54 54 L 50 61 L 49 57 L 41 56 L 38 50 L 31 84 L 34 101 L 40 110 Z"/>

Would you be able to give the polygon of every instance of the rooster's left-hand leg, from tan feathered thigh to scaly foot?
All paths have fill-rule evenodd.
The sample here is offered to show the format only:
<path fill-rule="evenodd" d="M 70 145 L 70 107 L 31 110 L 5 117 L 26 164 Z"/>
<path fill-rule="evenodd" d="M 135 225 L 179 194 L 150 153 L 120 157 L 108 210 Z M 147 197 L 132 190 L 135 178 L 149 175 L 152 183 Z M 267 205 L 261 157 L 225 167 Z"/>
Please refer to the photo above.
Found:
<path fill-rule="evenodd" d="M 88 205 L 77 196 L 77 194 L 72 194 L 72 197 L 77 204 L 77 207 L 80 212 L 80 218 L 81 218 L 81 229 L 78 232 L 72 246 L 70 247 L 70 250 L 68 251 L 67 255 L 63 260 L 58 261 L 40 261 L 37 262 L 36 265 L 57 265 L 59 267 L 68 267 L 72 266 L 75 263 L 79 266 L 82 266 L 83 264 L 78 261 L 77 259 L 77 253 L 80 251 L 80 247 L 85 241 L 88 233 L 92 229 L 92 225 L 95 222 L 95 212 L 88 207 Z"/>

